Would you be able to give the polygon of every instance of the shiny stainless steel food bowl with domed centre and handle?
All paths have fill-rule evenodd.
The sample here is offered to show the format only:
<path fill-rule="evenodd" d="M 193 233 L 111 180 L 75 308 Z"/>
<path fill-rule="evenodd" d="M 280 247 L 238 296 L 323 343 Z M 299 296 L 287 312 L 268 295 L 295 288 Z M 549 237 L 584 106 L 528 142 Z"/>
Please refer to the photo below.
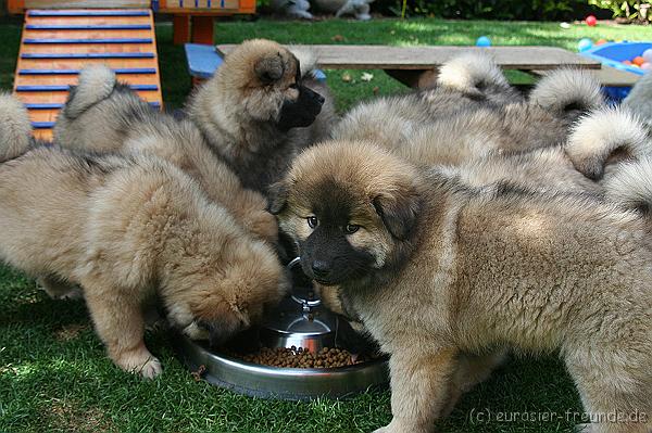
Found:
<path fill-rule="evenodd" d="M 318 352 L 340 346 L 342 319 L 322 306 L 298 258 L 288 268 L 293 279 L 292 294 L 268 315 L 258 332 L 236 338 L 229 347 L 296 346 Z M 191 341 L 185 335 L 175 336 L 174 345 L 185 365 L 208 382 L 255 397 L 343 398 L 387 387 L 389 382 L 387 360 L 383 358 L 337 368 L 281 368 L 244 361 L 224 348 L 213 348 L 208 342 Z"/>

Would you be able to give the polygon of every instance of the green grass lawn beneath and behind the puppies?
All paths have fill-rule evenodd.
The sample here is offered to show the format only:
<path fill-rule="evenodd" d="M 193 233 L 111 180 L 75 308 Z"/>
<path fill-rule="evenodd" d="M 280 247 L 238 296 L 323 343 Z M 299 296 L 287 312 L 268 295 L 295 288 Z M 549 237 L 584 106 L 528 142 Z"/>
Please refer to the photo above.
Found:
<path fill-rule="evenodd" d="M 487 35 L 494 44 L 548 44 L 574 49 L 581 37 L 652 40 L 651 27 L 573 26 L 559 23 L 448 22 L 438 20 L 276 21 L 220 23 L 216 41 L 252 37 L 280 42 L 472 44 Z M 183 49 L 172 27 L 156 27 L 167 107 L 190 90 Z M 0 88 L 11 89 L 20 42 L 17 24 L 0 24 Z M 405 89 L 380 72 L 327 72 L 340 111 L 356 101 Z M 1 205 L 1 204 L 0 204 Z M 150 333 L 163 374 L 143 381 L 105 357 L 83 302 L 52 301 L 35 282 L 0 266 L 0 432 L 369 432 L 389 422 L 389 392 L 350 400 L 310 403 L 243 397 L 196 382 L 174 357 L 167 336 Z M 573 382 L 554 357 L 515 356 L 459 404 L 438 432 L 562 432 L 568 412 L 581 410 Z"/>

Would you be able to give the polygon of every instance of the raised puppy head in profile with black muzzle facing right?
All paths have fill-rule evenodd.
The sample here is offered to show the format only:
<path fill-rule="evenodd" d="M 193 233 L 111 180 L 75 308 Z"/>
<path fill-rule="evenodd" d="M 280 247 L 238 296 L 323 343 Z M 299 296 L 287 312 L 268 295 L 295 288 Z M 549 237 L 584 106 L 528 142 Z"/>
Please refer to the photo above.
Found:
<path fill-rule="evenodd" d="M 273 122 L 280 130 L 310 126 L 324 98 L 303 86 L 297 58 L 271 40 L 252 39 L 234 49 L 218 69 L 222 89 L 238 99 L 255 120 Z"/>

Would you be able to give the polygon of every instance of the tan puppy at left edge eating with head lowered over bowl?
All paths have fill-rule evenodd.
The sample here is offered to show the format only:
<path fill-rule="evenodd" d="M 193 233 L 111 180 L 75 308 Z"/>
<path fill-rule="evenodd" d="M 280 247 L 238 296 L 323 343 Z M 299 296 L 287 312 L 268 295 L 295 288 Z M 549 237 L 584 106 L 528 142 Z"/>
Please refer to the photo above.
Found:
<path fill-rule="evenodd" d="M 142 340 L 150 297 L 188 336 L 220 342 L 285 295 L 272 247 L 181 170 L 151 155 L 28 150 L 29 140 L 18 152 L 7 129 L 29 120 L 24 110 L 7 113 L 16 106 L 0 99 L 0 117 L 13 119 L 0 126 L 0 259 L 49 281 L 50 291 L 79 284 L 117 366 L 161 372 Z"/>

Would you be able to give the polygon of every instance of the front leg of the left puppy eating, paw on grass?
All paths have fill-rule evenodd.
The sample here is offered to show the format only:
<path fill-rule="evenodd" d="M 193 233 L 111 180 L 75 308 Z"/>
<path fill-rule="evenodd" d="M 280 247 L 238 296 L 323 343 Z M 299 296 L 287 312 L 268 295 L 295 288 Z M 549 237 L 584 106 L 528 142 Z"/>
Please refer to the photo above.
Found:
<path fill-rule="evenodd" d="M 161 362 L 145 346 L 145 320 L 134 293 L 93 281 L 83 282 L 86 303 L 109 357 L 123 370 L 146 379 L 161 373 Z"/>

